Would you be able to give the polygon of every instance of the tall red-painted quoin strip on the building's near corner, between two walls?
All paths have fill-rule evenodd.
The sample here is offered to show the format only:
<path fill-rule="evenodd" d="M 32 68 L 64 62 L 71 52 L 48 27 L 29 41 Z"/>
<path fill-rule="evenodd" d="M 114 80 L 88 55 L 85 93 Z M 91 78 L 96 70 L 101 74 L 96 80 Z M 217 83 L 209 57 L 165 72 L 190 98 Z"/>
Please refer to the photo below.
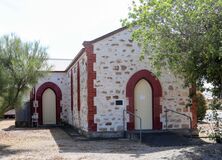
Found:
<path fill-rule="evenodd" d="M 90 43 L 83 44 L 87 56 L 87 86 L 88 86 L 88 131 L 97 131 L 97 124 L 94 123 L 94 115 L 96 114 L 96 106 L 94 106 L 94 97 L 96 97 L 96 89 L 94 88 L 94 79 L 96 72 L 93 70 L 93 63 L 96 62 L 96 55 L 93 53 L 93 45 Z"/>

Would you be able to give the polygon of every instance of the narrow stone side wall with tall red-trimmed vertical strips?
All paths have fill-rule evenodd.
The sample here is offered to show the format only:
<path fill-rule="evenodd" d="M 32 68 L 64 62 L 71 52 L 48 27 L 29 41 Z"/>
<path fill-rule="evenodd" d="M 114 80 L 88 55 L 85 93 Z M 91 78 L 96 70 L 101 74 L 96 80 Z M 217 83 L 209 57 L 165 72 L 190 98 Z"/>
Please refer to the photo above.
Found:
<path fill-rule="evenodd" d="M 83 131 L 88 130 L 87 63 L 86 62 L 87 62 L 87 57 L 86 57 L 86 54 L 83 53 L 82 56 L 69 68 L 67 72 L 67 74 L 70 77 L 69 78 L 70 83 L 71 83 L 71 72 L 73 72 L 73 92 L 72 92 L 73 93 L 73 111 L 71 111 L 71 106 L 70 106 L 70 113 L 71 113 L 70 116 L 72 116 L 70 117 L 70 119 L 72 119 L 73 121 L 72 123 L 69 123 L 69 124 Z M 78 91 L 78 81 L 79 81 L 79 89 L 80 89 L 79 91 Z M 71 88 L 71 84 L 69 86 Z M 71 91 L 69 93 L 71 93 Z M 80 98 L 80 100 L 78 100 L 78 98 Z"/>

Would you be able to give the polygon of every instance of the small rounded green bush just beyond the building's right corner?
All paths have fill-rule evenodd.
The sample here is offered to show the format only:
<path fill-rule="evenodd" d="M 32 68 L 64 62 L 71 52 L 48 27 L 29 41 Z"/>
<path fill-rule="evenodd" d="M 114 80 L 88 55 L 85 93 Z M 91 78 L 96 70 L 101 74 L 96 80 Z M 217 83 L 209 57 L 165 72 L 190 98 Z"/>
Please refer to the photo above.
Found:
<path fill-rule="evenodd" d="M 197 92 L 196 100 L 197 100 L 197 119 L 202 121 L 207 111 L 207 103 L 205 97 L 201 92 Z"/>

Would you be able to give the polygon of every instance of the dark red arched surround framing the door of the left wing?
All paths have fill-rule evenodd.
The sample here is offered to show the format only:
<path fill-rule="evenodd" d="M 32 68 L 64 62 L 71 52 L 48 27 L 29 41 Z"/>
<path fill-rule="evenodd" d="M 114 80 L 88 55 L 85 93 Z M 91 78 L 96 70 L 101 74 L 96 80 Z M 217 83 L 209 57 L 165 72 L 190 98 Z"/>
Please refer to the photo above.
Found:
<path fill-rule="evenodd" d="M 62 100 L 62 92 L 60 88 L 52 82 L 46 82 L 42 84 L 37 92 L 36 92 L 36 100 L 38 101 L 38 109 L 37 112 L 39 114 L 39 124 L 42 125 L 42 95 L 46 89 L 52 89 L 55 92 L 56 95 L 56 124 L 59 124 L 61 121 L 60 113 L 61 113 L 61 107 L 60 107 L 60 101 Z"/>

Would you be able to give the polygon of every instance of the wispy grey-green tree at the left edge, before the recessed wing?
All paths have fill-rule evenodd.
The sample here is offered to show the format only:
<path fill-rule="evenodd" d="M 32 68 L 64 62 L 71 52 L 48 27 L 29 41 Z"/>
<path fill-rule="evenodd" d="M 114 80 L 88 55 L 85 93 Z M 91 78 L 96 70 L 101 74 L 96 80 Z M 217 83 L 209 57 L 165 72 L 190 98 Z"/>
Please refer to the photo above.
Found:
<path fill-rule="evenodd" d="M 0 114 L 21 105 L 23 96 L 50 67 L 46 48 L 14 34 L 0 38 Z"/>

